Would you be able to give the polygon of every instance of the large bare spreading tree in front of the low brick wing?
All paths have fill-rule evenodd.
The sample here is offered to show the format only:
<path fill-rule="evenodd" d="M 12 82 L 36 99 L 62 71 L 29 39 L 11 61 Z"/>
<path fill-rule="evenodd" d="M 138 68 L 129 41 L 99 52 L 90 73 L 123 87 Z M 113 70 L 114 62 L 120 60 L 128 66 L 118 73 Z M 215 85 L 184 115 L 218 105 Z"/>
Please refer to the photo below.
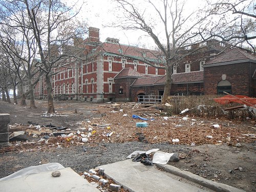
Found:
<path fill-rule="evenodd" d="M 143 6 L 136 1 L 116 2 L 124 14 L 121 23 L 116 26 L 125 30 L 145 32 L 155 41 L 162 53 L 166 70 L 162 99 L 164 103 L 171 90 L 173 66 L 177 66 L 182 59 L 202 48 L 189 51 L 185 49 L 210 38 L 202 38 L 207 26 L 205 20 L 209 15 L 204 11 L 185 9 L 186 2 L 180 0 L 145 0 Z"/>

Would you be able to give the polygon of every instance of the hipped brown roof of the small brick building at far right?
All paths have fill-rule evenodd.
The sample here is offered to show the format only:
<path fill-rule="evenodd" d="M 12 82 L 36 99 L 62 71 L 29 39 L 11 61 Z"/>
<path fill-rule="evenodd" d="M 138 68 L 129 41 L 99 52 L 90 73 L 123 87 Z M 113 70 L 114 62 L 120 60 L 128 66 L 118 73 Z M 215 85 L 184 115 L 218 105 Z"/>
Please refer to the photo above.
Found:
<path fill-rule="evenodd" d="M 244 61 L 244 60 L 254 60 L 256 61 L 256 57 L 244 52 L 241 49 L 233 48 L 226 53 L 219 55 L 218 57 L 208 61 L 205 63 L 205 66 L 215 64 L 215 63 L 223 63 L 223 62 L 231 62 L 231 61 Z"/>

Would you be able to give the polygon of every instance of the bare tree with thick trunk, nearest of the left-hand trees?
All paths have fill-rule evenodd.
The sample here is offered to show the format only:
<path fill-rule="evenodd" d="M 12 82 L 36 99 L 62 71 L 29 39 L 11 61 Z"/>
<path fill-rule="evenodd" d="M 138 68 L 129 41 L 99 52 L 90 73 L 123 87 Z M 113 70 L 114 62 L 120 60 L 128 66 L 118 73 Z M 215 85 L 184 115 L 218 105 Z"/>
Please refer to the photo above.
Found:
<path fill-rule="evenodd" d="M 81 7 L 75 10 L 76 2 L 73 6 L 67 6 L 60 0 L 20 2 L 26 8 L 38 46 L 40 63 L 37 66 L 45 73 L 48 113 L 55 113 L 51 83 L 52 71 L 67 58 L 75 60 L 76 56 L 83 51 L 71 47 L 73 39 L 81 36 L 86 29 L 83 23 L 76 18 Z"/>

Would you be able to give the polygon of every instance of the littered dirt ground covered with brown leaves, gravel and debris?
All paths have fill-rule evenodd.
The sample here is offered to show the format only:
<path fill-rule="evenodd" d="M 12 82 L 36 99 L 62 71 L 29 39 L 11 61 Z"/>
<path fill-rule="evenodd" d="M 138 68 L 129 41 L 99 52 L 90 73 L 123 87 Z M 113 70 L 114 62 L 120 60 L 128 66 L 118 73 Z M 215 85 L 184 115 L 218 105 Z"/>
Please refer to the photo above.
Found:
<path fill-rule="evenodd" d="M 50 162 L 71 167 L 80 174 L 99 165 L 125 160 L 136 150 L 159 148 L 179 154 L 180 161 L 169 162 L 171 165 L 209 180 L 255 191 L 253 119 L 201 118 L 192 114 L 168 117 L 162 105 L 140 106 L 137 110 L 133 109 L 134 103 L 118 103 L 121 105 L 117 109 L 111 108 L 113 103 L 55 101 L 54 104 L 57 114 L 49 117 L 45 114 L 45 100 L 36 101 L 37 109 L 0 101 L 0 113 L 11 116 L 11 129 L 25 131 L 10 146 L 0 148 L 0 178 Z M 147 127 L 136 127 L 137 122 L 144 121 Z M 56 131 L 56 127 L 44 127 L 50 123 L 67 129 Z M 51 132 L 70 135 L 63 138 Z M 82 134 L 88 142 L 81 141 Z M 42 139 L 47 135 L 49 139 Z"/>

